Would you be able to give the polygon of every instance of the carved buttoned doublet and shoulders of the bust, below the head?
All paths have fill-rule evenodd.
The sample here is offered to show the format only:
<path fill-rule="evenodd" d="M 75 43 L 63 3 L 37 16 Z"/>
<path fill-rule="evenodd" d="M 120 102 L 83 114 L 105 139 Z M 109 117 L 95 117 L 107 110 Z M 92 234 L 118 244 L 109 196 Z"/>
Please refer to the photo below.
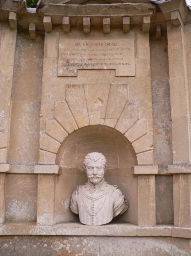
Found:
<path fill-rule="evenodd" d="M 70 208 L 80 215 L 81 223 L 94 226 L 110 222 L 127 210 L 127 204 L 117 186 L 103 179 L 98 185 L 88 182 L 77 187 L 72 193 Z"/>

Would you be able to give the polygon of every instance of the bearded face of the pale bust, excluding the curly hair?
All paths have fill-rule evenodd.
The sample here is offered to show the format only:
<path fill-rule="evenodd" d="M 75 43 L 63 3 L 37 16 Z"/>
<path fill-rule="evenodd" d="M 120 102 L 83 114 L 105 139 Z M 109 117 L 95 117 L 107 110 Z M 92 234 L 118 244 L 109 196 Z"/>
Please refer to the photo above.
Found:
<path fill-rule="evenodd" d="M 86 166 L 88 179 L 94 185 L 98 184 L 104 176 L 103 162 L 99 159 L 97 162 L 88 159 Z"/>

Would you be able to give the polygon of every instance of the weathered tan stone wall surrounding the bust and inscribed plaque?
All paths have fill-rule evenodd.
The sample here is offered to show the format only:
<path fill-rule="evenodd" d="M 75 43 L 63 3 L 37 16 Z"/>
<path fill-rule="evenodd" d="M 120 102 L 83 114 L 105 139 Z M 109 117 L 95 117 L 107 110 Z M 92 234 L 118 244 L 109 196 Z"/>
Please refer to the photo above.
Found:
<path fill-rule="evenodd" d="M 185 2 L 162 3 L 161 11 L 151 3 L 46 5 L 30 15 L 23 2 L 8 2 L 0 10 L 0 234 L 9 235 L 0 238 L 1 254 L 191 255 Z M 63 26 L 62 11 L 70 16 Z M 83 33 L 87 11 L 91 33 Z M 104 15 L 111 15 L 106 34 Z M 86 69 L 58 76 L 59 42 L 70 39 L 133 40 L 135 76 Z M 105 179 L 130 203 L 99 227 L 78 223 L 69 209 L 71 191 L 86 182 L 83 158 L 94 149 L 108 159 Z"/>

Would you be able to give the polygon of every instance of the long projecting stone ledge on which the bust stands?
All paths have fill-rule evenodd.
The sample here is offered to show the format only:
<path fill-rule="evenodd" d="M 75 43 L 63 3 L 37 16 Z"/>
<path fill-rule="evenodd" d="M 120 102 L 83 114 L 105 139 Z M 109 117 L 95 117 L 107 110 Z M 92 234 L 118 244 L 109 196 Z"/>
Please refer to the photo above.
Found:
<path fill-rule="evenodd" d="M 41 226 L 36 223 L 5 223 L 0 225 L 0 235 L 59 235 L 59 236 L 164 236 L 191 238 L 191 228 L 171 225 L 138 227 L 130 223 L 111 223 L 102 226 L 86 226 L 79 222 Z"/>

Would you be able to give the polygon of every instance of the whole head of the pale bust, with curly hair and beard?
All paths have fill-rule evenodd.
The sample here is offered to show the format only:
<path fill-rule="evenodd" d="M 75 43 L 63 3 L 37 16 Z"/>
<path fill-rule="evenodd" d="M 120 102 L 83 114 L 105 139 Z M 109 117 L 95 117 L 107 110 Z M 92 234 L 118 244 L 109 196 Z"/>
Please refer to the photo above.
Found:
<path fill-rule="evenodd" d="M 102 153 L 89 153 L 83 162 L 88 179 L 94 185 L 98 184 L 104 176 L 107 167 L 107 160 Z"/>

